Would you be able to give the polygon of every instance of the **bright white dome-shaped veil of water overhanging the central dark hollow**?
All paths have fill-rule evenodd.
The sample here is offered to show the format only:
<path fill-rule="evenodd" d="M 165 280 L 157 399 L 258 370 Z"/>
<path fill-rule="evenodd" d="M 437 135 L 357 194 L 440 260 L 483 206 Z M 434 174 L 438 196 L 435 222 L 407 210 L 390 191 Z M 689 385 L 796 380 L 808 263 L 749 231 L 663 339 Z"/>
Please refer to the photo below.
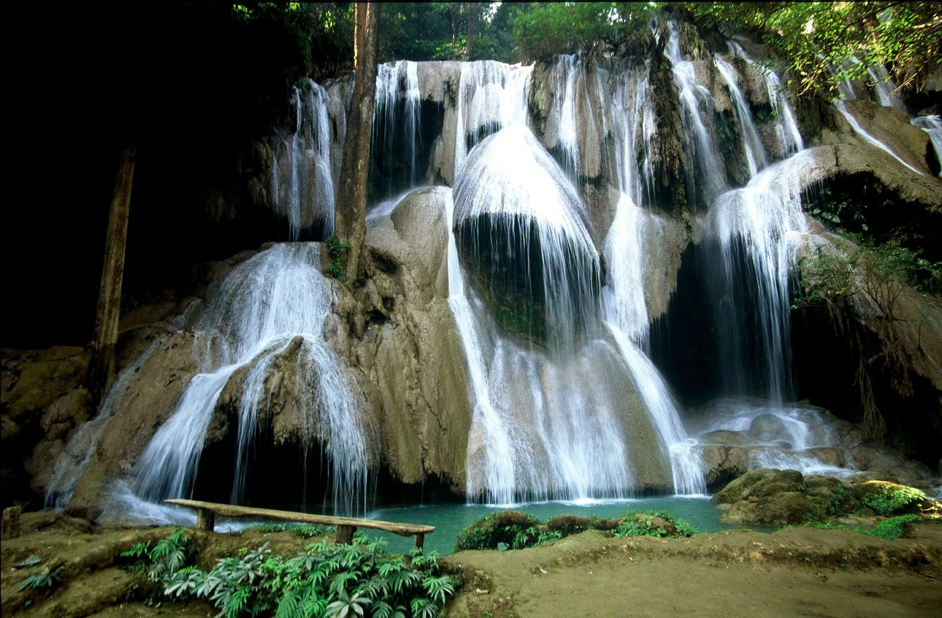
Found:
<path fill-rule="evenodd" d="M 550 347 L 572 345 L 597 313 L 601 263 L 582 200 L 560 166 L 527 127 L 514 124 L 471 152 L 454 194 L 455 225 L 466 242 L 481 257 L 503 249 L 504 241 L 510 261 L 523 256 L 526 280 L 542 280 L 536 293 L 545 303 Z M 531 248 L 539 249 L 540 263 L 530 259 Z"/>

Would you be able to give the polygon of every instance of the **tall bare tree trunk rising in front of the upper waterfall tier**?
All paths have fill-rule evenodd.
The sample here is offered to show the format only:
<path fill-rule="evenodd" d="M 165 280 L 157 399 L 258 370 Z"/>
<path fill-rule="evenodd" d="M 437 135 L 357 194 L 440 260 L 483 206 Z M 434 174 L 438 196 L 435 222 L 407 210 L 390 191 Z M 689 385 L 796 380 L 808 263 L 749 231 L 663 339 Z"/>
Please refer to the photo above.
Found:
<path fill-rule="evenodd" d="M 369 181 L 373 107 L 376 96 L 377 56 L 379 55 L 380 6 L 375 2 L 356 3 L 353 30 L 356 86 L 353 107 L 347 119 L 347 143 L 340 168 L 340 191 L 334 229 L 349 244 L 347 279 L 350 283 L 363 268 L 366 236 L 366 193 Z"/>

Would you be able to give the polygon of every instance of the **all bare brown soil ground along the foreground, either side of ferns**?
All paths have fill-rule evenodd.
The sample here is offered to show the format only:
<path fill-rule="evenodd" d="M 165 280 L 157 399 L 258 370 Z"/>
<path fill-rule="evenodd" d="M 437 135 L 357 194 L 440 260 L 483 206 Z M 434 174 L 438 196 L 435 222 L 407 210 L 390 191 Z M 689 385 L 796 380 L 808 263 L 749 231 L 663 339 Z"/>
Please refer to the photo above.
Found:
<path fill-rule="evenodd" d="M 135 600 L 146 579 L 126 572 L 116 557 L 171 529 L 89 533 L 82 520 L 42 516 L 48 520 L 24 515 L 23 536 L 3 543 L 4 616 L 203 618 L 218 612 L 203 602 L 150 607 Z M 289 532 L 191 534 L 204 567 L 240 547 L 269 542 L 274 552 L 293 554 L 311 542 Z M 31 555 L 42 557 L 40 566 L 11 569 Z M 689 539 L 616 539 L 587 531 L 544 547 L 464 551 L 443 564 L 464 582 L 447 606 L 451 618 L 942 615 L 937 522 L 912 526 L 896 541 L 811 528 Z M 24 578 L 46 567 L 62 577 L 53 594 L 17 591 Z"/>

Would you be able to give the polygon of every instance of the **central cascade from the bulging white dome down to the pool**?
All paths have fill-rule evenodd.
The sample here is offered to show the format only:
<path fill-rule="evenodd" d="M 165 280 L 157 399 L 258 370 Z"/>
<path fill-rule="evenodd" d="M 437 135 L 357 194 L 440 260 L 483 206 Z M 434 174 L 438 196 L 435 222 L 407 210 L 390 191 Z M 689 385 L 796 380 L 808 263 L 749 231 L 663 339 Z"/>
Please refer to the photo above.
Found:
<path fill-rule="evenodd" d="M 454 195 L 452 230 L 463 239 L 472 277 L 493 275 L 474 268 L 486 246 L 488 255 L 509 257 L 499 270 L 521 268 L 525 281 L 542 279 L 530 292 L 544 299 L 544 314 L 535 318 L 545 320 L 546 341 L 545 349 L 521 344 L 495 324 L 489 317 L 495 305 L 465 283 L 453 238 L 449 303 L 476 400 L 468 497 L 509 503 L 629 494 L 639 483 L 619 393 L 630 381 L 617 367 L 617 350 L 598 338 L 599 256 L 575 189 L 529 130 L 512 125 L 471 153 Z M 595 389 L 585 388 L 590 376 Z"/>

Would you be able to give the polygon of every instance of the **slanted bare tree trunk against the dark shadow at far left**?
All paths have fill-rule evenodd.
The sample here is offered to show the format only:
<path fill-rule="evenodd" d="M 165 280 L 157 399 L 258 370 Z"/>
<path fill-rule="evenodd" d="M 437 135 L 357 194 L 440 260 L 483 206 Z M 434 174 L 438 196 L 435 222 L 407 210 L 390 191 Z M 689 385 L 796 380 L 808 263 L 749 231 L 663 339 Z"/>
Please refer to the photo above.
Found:
<path fill-rule="evenodd" d="M 98 291 L 95 313 L 95 341 L 89 365 L 89 389 L 97 399 L 107 387 L 115 371 L 115 344 L 118 342 L 118 320 L 121 318 L 121 289 L 124 277 L 124 246 L 127 243 L 127 215 L 131 204 L 131 183 L 134 181 L 135 148 L 122 152 L 111 195 L 108 232 L 105 239 L 105 264 Z"/>

